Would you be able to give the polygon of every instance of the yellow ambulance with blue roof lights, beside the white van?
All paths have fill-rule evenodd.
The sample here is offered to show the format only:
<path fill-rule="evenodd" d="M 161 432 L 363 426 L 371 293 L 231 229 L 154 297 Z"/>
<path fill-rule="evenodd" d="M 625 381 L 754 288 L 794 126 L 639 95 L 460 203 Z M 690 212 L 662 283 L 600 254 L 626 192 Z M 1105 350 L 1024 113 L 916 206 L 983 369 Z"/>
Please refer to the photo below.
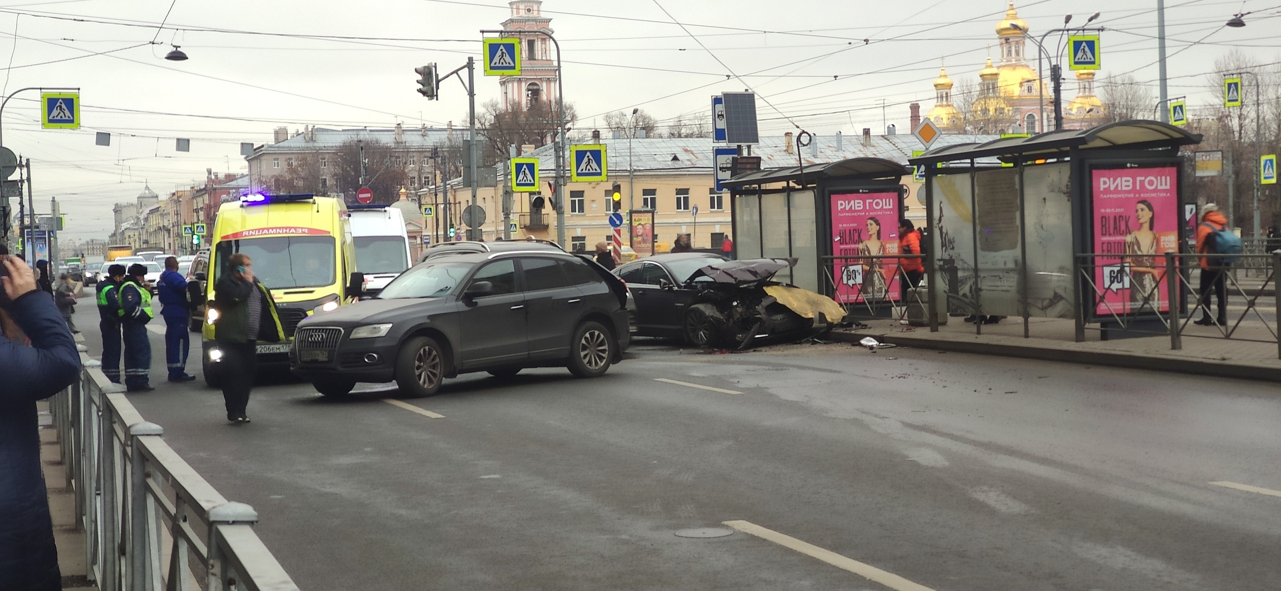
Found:
<path fill-rule="evenodd" d="M 257 344 L 260 365 L 287 368 L 298 322 L 333 310 L 359 294 L 351 292 L 356 272 L 351 215 L 339 199 L 256 192 L 224 203 L 218 209 L 210 241 L 206 300 L 215 300 L 214 286 L 228 272 L 227 260 L 236 253 L 245 253 L 254 262 L 254 276 L 270 290 L 284 328 L 284 342 Z M 355 278 L 363 282 L 359 274 Z M 222 353 L 214 341 L 216 318 L 218 312 L 211 306 L 201 331 L 205 382 L 211 387 L 220 385 Z"/>

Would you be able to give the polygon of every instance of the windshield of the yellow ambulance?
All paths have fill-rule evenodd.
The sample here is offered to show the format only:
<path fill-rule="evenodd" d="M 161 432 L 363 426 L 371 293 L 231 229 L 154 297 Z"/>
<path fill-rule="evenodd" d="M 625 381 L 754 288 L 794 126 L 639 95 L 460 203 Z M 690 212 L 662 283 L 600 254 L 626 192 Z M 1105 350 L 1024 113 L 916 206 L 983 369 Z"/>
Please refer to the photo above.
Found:
<path fill-rule="evenodd" d="M 334 282 L 333 236 L 275 236 L 218 242 L 216 282 L 227 273 L 227 259 L 245 253 L 254 277 L 270 290 L 325 287 Z"/>

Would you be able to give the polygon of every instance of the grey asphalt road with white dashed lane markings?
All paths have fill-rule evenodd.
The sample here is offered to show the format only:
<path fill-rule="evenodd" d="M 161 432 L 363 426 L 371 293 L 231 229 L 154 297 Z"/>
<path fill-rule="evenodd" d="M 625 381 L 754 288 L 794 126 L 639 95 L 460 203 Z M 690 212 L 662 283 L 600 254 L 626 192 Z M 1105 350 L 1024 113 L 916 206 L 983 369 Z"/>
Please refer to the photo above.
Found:
<path fill-rule="evenodd" d="M 94 312 L 78 319 L 97 354 Z M 443 418 L 374 385 L 323 399 L 275 381 L 233 427 L 218 391 L 165 382 L 152 347 L 158 390 L 129 399 L 257 509 L 306 591 L 1281 588 L 1281 497 L 1211 483 L 1281 490 L 1271 383 L 640 341 L 597 379 L 468 376 L 401 400 Z M 817 549 L 674 535 L 728 520 Z"/>

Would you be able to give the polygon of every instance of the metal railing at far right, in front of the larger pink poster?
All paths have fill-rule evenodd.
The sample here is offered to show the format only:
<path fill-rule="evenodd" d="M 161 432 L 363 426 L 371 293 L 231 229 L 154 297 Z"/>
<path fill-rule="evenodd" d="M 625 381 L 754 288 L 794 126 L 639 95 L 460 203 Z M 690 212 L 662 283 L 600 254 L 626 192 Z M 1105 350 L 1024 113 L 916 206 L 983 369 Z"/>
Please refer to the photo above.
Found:
<path fill-rule="evenodd" d="M 1134 267 L 1126 264 L 1126 260 L 1131 258 L 1116 254 L 1082 254 L 1076 256 L 1076 267 L 1081 277 L 1081 285 L 1084 286 L 1082 291 L 1090 296 L 1089 301 L 1081 303 L 1077 312 L 1077 341 L 1084 340 L 1086 329 L 1107 331 L 1117 328 L 1131 333 L 1168 335 L 1170 349 L 1172 350 L 1182 349 L 1184 337 L 1275 342 L 1277 344 L 1277 356 L 1281 358 L 1281 338 L 1277 337 L 1278 332 L 1281 332 L 1281 327 L 1277 324 L 1278 319 L 1281 319 L 1281 299 L 1272 296 L 1273 303 L 1271 309 L 1266 310 L 1259 306 L 1262 297 L 1276 294 L 1277 272 L 1281 269 L 1281 253 L 1253 255 L 1166 253 L 1164 255 L 1153 256 L 1157 259 L 1157 265 L 1141 273 L 1152 277 L 1143 277 L 1141 279 L 1135 274 Z M 1217 279 L 1222 282 L 1222 291 L 1220 294 L 1213 291 L 1203 294 L 1199 285 L 1200 281 L 1198 281 L 1198 286 L 1193 286 L 1193 271 L 1198 273 L 1204 272 L 1200 269 L 1198 259 L 1207 259 L 1207 263 L 1222 271 L 1222 278 Z M 1235 259 L 1235 262 L 1226 265 L 1214 263 L 1222 259 Z M 1262 274 L 1262 285 L 1252 288 L 1244 287 L 1236 273 L 1232 273 L 1234 269 L 1240 268 L 1255 269 L 1257 273 Z M 1097 281 L 1097 269 L 1103 269 L 1104 273 L 1112 274 L 1104 279 L 1106 283 L 1103 286 Z M 1175 281 L 1167 281 L 1170 278 Z M 1117 292 L 1116 286 L 1118 285 L 1125 286 L 1122 288 L 1127 290 L 1129 300 L 1126 303 L 1108 301 L 1107 292 Z M 1212 288 L 1218 291 L 1214 285 L 1207 287 L 1207 291 Z M 1218 304 L 1216 301 L 1218 295 L 1223 295 L 1221 308 L 1223 310 L 1222 315 L 1227 320 L 1222 324 L 1217 322 L 1220 314 L 1214 313 L 1214 304 Z M 1138 308 L 1131 308 L 1135 305 L 1135 296 L 1138 296 Z M 1237 305 L 1234 306 L 1234 301 Z M 1244 303 L 1244 306 L 1240 305 L 1241 303 Z M 1100 323 L 1099 327 L 1086 326 L 1086 306 L 1089 305 L 1097 306 L 1093 315 L 1094 322 Z M 1186 317 L 1182 317 L 1185 308 L 1189 313 Z M 1272 315 L 1271 319 L 1264 317 L 1264 310 Z M 1209 323 L 1209 326 L 1214 327 L 1213 331 L 1189 331 L 1189 324 L 1194 323 L 1193 317 L 1198 312 L 1204 318 L 1214 320 Z M 1150 322 L 1145 326 L 1145 320 L 1153 319 L 1159 320 L 1163 327 L 1162 331 L 1158 332 L 1146 328 L 1146 326 L 1150 326 Z"/>

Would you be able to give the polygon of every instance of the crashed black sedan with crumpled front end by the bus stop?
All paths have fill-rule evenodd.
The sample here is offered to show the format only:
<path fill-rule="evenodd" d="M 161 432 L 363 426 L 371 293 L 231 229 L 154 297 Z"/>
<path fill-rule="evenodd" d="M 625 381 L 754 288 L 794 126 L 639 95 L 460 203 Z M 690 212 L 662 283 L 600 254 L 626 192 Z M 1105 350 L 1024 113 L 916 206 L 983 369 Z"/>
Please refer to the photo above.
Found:
<path fill-rule="evenodd" d="M 789 259 L 657 255 L 615 269 L 628 283 L 633 331 L 694 346 L 747 349 L 820 335 L 845 313 L 830 297 L 774 281 Z"/>

